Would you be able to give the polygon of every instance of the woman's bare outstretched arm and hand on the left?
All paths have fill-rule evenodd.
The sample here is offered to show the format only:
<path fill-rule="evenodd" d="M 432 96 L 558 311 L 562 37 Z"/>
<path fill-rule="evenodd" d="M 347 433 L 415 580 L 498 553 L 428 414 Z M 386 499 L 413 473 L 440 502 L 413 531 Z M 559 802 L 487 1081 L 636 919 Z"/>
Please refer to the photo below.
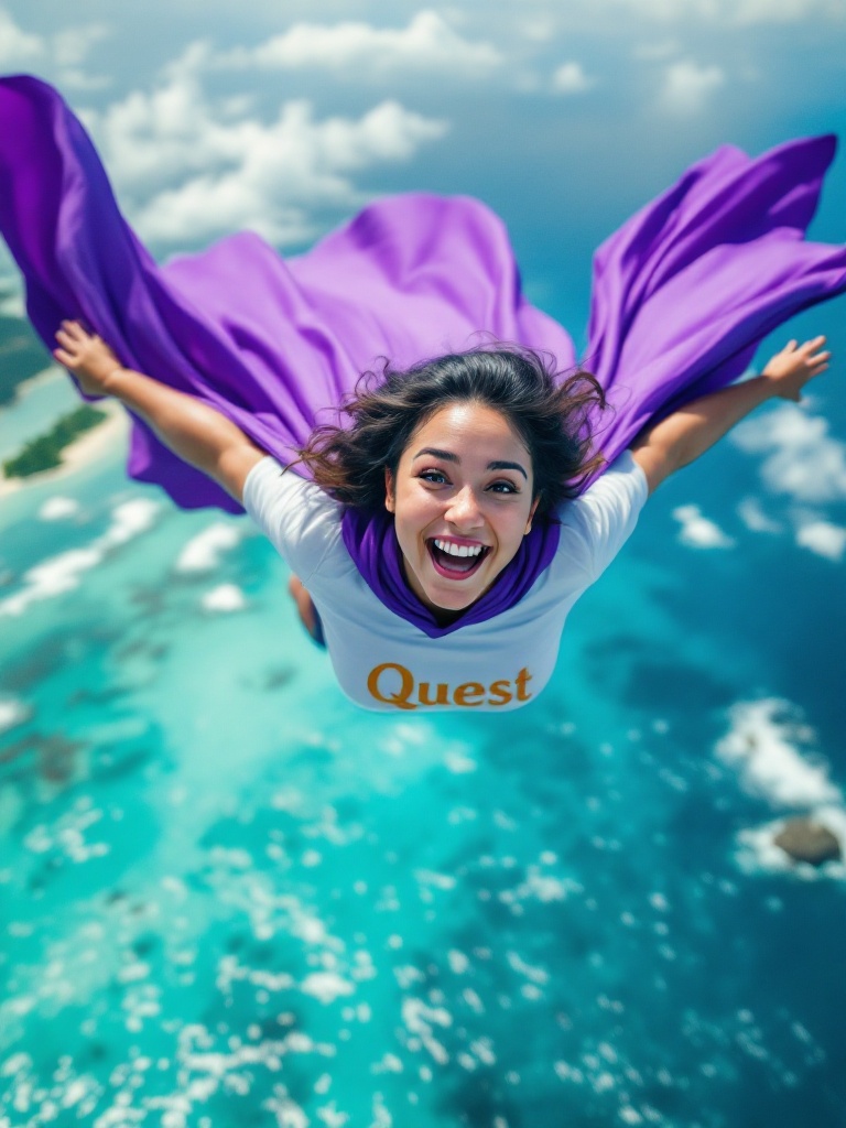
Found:
<path fill-rule="evenodd" d="M 89 396 L 113 396 L 140 415 L 184 461 L 208 474 L 236 501 L 265 451 L 220 412 L 193 396 L 123 368 L 100 337 L 79 321 L 62 321 L 53 355 Z"/>

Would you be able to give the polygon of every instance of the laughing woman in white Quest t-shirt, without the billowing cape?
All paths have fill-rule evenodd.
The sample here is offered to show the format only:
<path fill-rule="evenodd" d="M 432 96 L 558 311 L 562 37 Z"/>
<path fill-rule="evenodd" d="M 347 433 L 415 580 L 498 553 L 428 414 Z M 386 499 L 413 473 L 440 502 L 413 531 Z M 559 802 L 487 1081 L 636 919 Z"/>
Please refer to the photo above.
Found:
<path fill-rule="evenodd" d="M 597 461 L 585 460 L 583 416 L 601 404 L 601 389 L 585 376 L 556 382 L 530 353 L 477 351 L 389 376 L 349 405 L 351 429 L 317 433 L 302 452 L 315 470 L 306 482 L 219 412 L 122 368 L 78 323 L 63 323 L 56 337 L 56 360 L 86 394 L 115 396 L 144 418 L 244 502 L 303 575 L 346 694 L 367 708 L 412 712 L 517 708 L 537 696 L 567 611 L 622 546 L 647 493 L 752 407 L 799 399 L 829 356 L 823 337 L 792 341 L 759 377 L 647 429 L 578 494 L 573 483 Z M 346 538 L 344 503 L 353 519 Z M 393 520 L 379 522 L 384 511 Z M 540 558 L 525 554 L 514 571 L 534 521 L 555 513 Z M 370 572 L 355 565 L 368 536 Z M 307 622 L 314 610 L 297 585 Z"/>

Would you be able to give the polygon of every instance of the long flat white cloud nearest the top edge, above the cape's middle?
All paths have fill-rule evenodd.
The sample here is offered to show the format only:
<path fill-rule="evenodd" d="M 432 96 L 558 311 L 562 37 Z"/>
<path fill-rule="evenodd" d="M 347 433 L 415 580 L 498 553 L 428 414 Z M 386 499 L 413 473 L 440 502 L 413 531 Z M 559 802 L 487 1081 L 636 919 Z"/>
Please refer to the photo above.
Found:
<path fill-rule="evenodd" d="M 457 78 L 486 73 L 502 63 L 490 43 L 461 38 L 437 11 L 420 11 L 405 28 L 363 23 L 294 24 L 254 50 L 221 58 L 229 65 L 358 69 L 363 76 L 441 71 Z"/>

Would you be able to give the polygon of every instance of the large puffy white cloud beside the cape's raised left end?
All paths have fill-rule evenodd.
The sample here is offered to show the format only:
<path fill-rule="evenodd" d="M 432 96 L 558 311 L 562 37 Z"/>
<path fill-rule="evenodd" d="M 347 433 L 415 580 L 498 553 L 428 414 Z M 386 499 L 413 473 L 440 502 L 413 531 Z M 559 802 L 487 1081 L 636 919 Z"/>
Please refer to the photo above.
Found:
<path fill-rule="evenodd" d="M 250 228 L 279 245 L 303 240 L 316 233 L 315 208 L 363 202 L 352 174 L 407 160 L 447 131 L 393 100 L 359 118 L 318 121 L 305 100 L 285 103 L 271 122 L 247 111 L 210 103 L 186 65 L 152 92 L 88 116 L 115 183 L 135 199 L 129 210 L 144 238 L 188 244 Z"/>

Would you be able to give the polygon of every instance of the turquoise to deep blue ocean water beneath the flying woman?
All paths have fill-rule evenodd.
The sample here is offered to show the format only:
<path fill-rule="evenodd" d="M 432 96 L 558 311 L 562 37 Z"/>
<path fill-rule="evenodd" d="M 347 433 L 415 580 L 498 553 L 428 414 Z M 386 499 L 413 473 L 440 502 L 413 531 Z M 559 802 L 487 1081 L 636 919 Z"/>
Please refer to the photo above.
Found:
<path fill-rule="evenodd" d="M 846 1123 L 846 869 L 770 843 L 845 818 L 843 503 L 778 418 L 495 719 L 347 703 L 120 444 L 0 499 L 0 1125 Z"/>

